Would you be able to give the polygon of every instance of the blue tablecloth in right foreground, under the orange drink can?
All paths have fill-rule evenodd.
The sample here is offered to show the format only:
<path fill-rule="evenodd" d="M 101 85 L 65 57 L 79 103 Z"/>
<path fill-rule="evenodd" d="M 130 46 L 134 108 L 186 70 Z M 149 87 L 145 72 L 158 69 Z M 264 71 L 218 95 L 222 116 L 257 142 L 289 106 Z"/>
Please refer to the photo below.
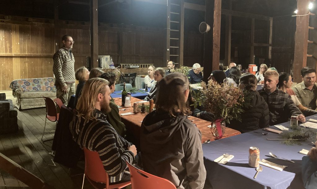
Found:
<path fill-rule="evenodd" d="M 313 116 L 307 118 L 314 118 Z M 306 118 L 306 119 L 307 119 Z M 289 122 L 282 123 L 283 126 L 289 126 Z M 270 126 L 272 129 L 277 129 Z M 279 129 L 277 129 L 279 130 Z M 290 129 L 291 130 L 291 129 Z M 313 129 L 317 131 L 317 129 Z M 257 131 L 267 133 L 262 129 Z M 286 132 L 286 131 L 284 131 Z M 301 159 L 304 154 L 299 154 L 301 149 L 313 147 L 310 141 L 301 142 L 302 145 L 288 146 L 280 141 L 268 141 L 269 139 L 279 139 L 278 134 L 269 133 L 262 135 L 254 132 L 243 133 L 241 135 L 224 138 L 221 140 L 203 144 L 204 164 L 207 170 L 207 178 L 214 189 L 217 188 L 304 188 L 301 178 Z M 314 141 L 312 141 L 314 142 Z M 256 179 L 253 179 L 256 170 L 249 167 L 249 148 L 258 147 L 260 150 L 260 159 L 266 159 L 279 165 L 288 166 L 283 171 L 277 171 L 269 167 L 263 167 Z M 274 159 L 269 152 L 295 161 L 291 163 L 284 160 Z M 213 162 L 222 154 L 229 153 L 235 157 L 226 165 Z"/>

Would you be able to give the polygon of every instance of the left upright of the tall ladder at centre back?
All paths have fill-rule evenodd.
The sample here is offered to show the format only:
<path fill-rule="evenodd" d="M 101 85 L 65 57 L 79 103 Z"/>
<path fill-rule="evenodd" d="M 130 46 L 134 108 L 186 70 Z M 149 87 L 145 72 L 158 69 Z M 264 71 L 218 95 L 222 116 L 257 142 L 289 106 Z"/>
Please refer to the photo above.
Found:
<path fill-rule="evenodd" d="M 163 66 L 167 66 L 167 62 L 170 61 L 170 38 L 171 38 L 171 3 L 166 3 L 166 29 L 164 32 L 164 49 L 163 49 Z"/>

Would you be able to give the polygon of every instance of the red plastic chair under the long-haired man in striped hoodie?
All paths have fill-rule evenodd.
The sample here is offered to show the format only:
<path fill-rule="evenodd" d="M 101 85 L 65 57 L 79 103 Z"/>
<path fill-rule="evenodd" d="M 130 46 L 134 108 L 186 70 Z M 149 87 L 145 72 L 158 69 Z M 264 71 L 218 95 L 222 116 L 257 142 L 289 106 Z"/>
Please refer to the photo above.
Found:
<path fill-rule="evenodd" d="M 84 148 L 85 153 L 85 172 L 84 179 L 82 181 L 82 188 L 84 187 L 85 175 L 88 181 L 94 188 L 100 188 L 97 183 L 103 183 L 106 185 L 106 189 L 113 188 L 123 188 L 131 184 L 130 181 L 109 185 L 109 176 L 105 169 L 103 168 L 103 164 L 100 160 L 98 152 L 90 151 L 87 148 Z M 104 187 L 103 187 L 104 188 Z"/>

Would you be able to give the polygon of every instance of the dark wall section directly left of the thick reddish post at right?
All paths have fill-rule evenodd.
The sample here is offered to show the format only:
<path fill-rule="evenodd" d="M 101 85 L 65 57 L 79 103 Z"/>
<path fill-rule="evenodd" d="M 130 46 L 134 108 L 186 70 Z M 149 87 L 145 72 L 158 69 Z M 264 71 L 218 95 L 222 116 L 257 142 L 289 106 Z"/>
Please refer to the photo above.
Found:
<path fill-rule="evenodd" d="M 293 75 L 295 31 L 295 17 L 273 17 L 271 66 L 278 72 Z"/>

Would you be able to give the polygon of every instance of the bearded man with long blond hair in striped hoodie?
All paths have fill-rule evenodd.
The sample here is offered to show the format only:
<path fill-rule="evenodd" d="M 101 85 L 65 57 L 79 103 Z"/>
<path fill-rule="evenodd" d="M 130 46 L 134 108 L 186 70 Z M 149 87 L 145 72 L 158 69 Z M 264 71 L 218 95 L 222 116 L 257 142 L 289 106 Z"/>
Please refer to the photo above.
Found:
<path fill-rule="evenodd" d="M 73 140 L 82 148 L 98 152 L 110 183 L 130 180 L 125 161 L 135 165 L 137 150 L 108 123 L 103 112 L 110 112 L 110 88 L 106 79 L 89 79 L 69 125 Z"/>

